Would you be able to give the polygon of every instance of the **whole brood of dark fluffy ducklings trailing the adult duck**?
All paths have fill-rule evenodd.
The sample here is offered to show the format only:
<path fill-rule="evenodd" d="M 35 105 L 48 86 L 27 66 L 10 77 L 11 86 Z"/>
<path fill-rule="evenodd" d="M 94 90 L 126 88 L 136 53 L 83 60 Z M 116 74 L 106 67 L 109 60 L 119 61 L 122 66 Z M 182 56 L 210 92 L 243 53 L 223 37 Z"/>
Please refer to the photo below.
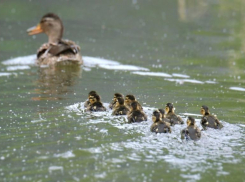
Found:
<path fill-rule="evenodd" d="M 84 108 L 87 112 L 106 111 L 106 107 L 101 102 L 101 97 L 96 91 L 88 93 L 88 99 L 84 103 Z M 115 93 L 109 108 L 114 116 L 127 116 L 128 123 L 140 123 L 148 120 L 143 107 L 134 95 L 126 95 L 124 98 L 122 94 Z M 171 127 L 183 125 L 184 121 L 175 114 L 174 110 L 175 108 L 172 103 L 167 103 L 165 109 L 154 110 L 150 131 L 154 133 L 171 133 Z M 210 114 L 207 106 L 203 105 L 200 112 L 202 114 L 200 122 L 203 127 L 202 130 L 207 130 L 208 128 L 221 129 L 223 127 L 217 117 Z M 195 119 L 189 116 L 186 124 L 187 127 L 181 131 L 181 139 L 199 140 L 201 138 L 201 130 L 197 127 Z"/>

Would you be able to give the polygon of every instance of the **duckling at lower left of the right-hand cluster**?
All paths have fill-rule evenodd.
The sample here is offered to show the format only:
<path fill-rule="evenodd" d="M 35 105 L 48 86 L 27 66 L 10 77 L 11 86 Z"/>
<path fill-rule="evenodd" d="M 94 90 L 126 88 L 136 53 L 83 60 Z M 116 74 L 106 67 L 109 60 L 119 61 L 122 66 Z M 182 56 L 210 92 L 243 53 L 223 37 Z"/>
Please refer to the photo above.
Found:
<path fill-rule="evenodd" d="M 153 124 L 151 125 L 151 132 L 155 133 L 171 133 L 170 124 L 162 121 L 162 114 L 156 110 L 152 114 Z"/>

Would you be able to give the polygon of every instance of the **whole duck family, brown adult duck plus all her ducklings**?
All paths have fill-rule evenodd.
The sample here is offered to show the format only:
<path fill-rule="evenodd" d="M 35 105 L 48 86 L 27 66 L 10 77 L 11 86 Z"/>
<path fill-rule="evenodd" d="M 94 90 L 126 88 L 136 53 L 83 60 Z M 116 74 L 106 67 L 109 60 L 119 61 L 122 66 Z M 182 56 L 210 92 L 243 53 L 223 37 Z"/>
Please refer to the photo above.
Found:
<path fill-rule="evenodd" d="M 38 25 L 29 28 L 27 32 L 29 35 L 45 33 L 48 36 L 48 43 L 43 44 L 37 51 L 38 65 L 52 67 L 60 64 L 75 66 L 83 64 L 80 47 L 73 41 L 62 39 L 63 24 L 56 14 L 44 15 Z M 96 91 L 89 92 L 84 107 L 89 112 L 106 111 Z M 122 94 L 115 93 L 109 108 L 112 109 L 112 115 L 126 115 L 128 123 L 139 123 L 148 119 L 143 107 L 134 95 L 126 95 L 124 98 Z M 207 106 L 203 105 L 200 112 L 203 130 L 207 128 L 221 129 L 223 127 L 217 117 L 210 114 Z M 174 113 L 172 103 L 167 103 L 165 109 L 155 110 L 152 113 L 152 121 L 150 130 L 155 133 L 171 133 L 171 127 L 184 124 L 182 118 Z M 181 139 L 200 139 L 201 130 L 196 126 L 195 119 L 189 116 L 186 124 L 187 127 L 181 131 Z"/>

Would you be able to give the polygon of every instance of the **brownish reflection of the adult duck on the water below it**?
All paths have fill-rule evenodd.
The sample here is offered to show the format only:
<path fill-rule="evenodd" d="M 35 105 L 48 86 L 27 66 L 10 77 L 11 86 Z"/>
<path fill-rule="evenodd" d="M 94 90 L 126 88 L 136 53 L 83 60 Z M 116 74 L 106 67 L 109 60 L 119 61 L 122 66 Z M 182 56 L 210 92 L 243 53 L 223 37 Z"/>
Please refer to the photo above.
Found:
<path fill-rule="evenodd" d="M 77 79 L 82 78 L 80 66 L 57 66 L 40 67 L 35 93 L 39 97 L 32 97 L 32 100 L 59 100 L 68 92 L 73 92 L 70 87 L 74 86 Z"/>

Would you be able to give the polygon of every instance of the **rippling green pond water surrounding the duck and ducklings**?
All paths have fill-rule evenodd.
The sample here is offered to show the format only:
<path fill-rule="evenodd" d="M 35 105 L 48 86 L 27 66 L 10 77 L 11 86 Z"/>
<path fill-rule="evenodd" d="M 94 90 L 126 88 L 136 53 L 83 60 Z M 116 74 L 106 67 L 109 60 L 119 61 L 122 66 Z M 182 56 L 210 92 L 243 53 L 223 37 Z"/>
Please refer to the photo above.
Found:
<path fill-rule="evenodd" d="M 26 29 L 54 12 L 83 56 L 204 83 L 0 64 L 0 75 L 11 74 L 0 76 L 0 181 L 245 181 L 245 92 L 230 89 L 245 88 L 244 10 L 242 0 L 1 1 L 2 63 L 35 54 L 47 37 Z M 110 112 L 82 112 L 90 90 L 106 104 L 115 92 L 134 94 L 149 118 L 167 102 L 193 114 L 205 104 L 225 128 L 181 143 L 183 126 L 155 135 L 151 120 L 128 125 Z"/>

